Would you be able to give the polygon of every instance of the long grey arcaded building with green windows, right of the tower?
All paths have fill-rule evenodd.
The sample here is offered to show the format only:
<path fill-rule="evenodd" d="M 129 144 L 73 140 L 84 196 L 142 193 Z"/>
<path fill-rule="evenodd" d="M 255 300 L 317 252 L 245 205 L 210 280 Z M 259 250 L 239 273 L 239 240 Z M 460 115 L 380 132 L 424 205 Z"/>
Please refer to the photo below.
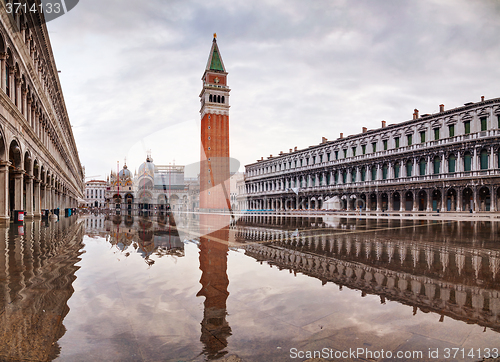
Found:
<path fill-rule="evenodd" d="M 245 166 L 242 210 L 497 211 L 500 98 Z"/>

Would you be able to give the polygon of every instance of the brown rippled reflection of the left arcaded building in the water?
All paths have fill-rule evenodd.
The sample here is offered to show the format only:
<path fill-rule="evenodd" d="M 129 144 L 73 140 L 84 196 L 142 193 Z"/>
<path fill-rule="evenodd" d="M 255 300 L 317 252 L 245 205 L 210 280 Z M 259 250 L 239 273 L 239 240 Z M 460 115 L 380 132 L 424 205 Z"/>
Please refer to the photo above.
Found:
<path fill-rule="evenodd" d="M 0 228 L 0 359 L 50 360 L 79 269 L 83 227 L 75 218 Z"/>

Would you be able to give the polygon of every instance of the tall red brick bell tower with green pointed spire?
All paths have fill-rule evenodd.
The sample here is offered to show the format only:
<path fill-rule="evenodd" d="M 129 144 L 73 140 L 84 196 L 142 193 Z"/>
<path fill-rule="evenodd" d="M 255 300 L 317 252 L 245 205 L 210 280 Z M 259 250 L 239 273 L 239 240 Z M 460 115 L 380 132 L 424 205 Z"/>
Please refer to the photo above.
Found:
<path fill-rule="evenodd" d="M 228 210 L 229 92 L 227 72 L 214 34 L 203 77 L 201 102 L 200 209 Z"/>

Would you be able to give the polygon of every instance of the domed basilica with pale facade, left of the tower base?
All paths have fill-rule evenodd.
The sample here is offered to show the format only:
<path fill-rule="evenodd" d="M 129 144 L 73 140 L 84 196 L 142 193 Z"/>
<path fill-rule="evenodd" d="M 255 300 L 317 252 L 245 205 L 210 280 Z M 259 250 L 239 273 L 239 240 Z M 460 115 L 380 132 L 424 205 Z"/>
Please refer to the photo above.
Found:
<path fill-rule="evenodd" d="M 184 185 L 184 166 L 155 165 L 150 156 L 135 176 L 124 165 L 118 176 L 111 172 L 108 182 L 108 207 L 124 214 L 186 211 L 192 204 Z"/>

